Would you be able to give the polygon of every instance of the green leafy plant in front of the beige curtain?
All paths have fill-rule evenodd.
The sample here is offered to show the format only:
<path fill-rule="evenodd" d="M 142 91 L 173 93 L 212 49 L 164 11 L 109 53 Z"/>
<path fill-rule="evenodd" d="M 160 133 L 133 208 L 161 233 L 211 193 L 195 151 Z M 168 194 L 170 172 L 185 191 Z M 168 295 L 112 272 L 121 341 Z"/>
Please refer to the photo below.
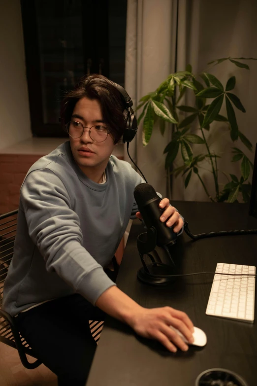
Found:
<path fill-rule="evenodd" d="M 256 60 L 255 58 L 222 58 L 208 63 L 217 65 L 230 61 L 235 66 L 249 70 L 249 66 L 242 60 Z M 169 74 L 168 77 L 154 91 L 140 99 L 137 110 L 143 107 L 138 117 L 138 124 L 143 119 L 143 145 L 147 145 L 154 128 L 154 123 L 159 121 L 161 134 L 165 130 L 165 122 L 173 126 L 172 140 L 167 144 L 163 153 L 166 154 L 165 168 L 168 177 L 171 173 L 186 175 L 185 188 L 190 183 L 191 176 L 197 175 L 205 193 L 212 202 L 234 202 L 242 195 L 243 201 L 248 202 L 251 193 L 251 183 L 248 181 L 252 162 L 245 153 L 236 146 L 237 140 L 252 151 L 252 143 L 239 130 L 235 115 L 235 108 L 245 113 L 246 110 L 240 99 L 233 93 L 236 84 L 235 76 L 231 76 L 225 86 L 220 80 L 209 72 L 193 74 L 191 65 L 185 71 Z M 186 92 L 193 92 L 194 105 L 181 105 L 181 100 Z M 210 100 L 212 100 L 210 102 Z M 226 116 L 220 114 L 225 103 Z M 179 112 L 187 113 L 181 120 Z M 232 157 L 231 162 L 241 163 L 241 175 L 227 175 L 228 182 L 221 188 L 219 184 L 219 171 L 217 159 L 221 158 L 208 144 L 208 132 L 212 130 L 212 123 L 220 121 L 225 123 L 230 131 Z M 195 125 L 195 123 L 197 125 Z M 195 134 L 197 131 L 198 134 Z M 191 144 L 199 144 L 202 151 L 195 153 Z M 181 152 L 182 165 L 172 168 L 173 162 Z M 201 177 L 200 167 L 207 163 L 213 177 L 215 195 L 212 197 Z"/>

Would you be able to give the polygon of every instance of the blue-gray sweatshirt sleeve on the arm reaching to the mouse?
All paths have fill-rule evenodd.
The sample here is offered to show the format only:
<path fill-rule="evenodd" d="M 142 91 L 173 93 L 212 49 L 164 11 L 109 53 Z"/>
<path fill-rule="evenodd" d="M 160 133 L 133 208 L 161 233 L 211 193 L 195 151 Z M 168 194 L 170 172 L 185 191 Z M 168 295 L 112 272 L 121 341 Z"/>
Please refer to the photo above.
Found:
<path fill-rule="evenodd" d="M 21 188 L 21 203 L 48 272 L 56 272 L 92 304 L 116 285 L 83 246 L 79 217 L 57 175 L 49 169 L 31 172 Z"/>

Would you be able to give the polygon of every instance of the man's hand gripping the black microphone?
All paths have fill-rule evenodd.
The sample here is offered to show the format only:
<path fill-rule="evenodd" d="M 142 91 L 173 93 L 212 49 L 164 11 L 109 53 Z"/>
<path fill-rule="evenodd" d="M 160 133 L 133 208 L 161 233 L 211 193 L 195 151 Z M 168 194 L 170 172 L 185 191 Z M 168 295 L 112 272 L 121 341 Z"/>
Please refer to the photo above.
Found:
<path fill-rule="evenodd" d="M 173 225 L 173 231 L 175 233 L 179 233 L 184 225 L 184 222 L 179 212 L 176 211 L 174 207 L 169 205 L 169 199 L 163 198 L 159 204 L 159 207 L 163 210 L 161 213 L 160 221 L 166 222 L 167 227 L 171 227 Z M 136 217 L 140 218 L 140 220 L 143 220 L 140 212 L 136 212 Z"/>

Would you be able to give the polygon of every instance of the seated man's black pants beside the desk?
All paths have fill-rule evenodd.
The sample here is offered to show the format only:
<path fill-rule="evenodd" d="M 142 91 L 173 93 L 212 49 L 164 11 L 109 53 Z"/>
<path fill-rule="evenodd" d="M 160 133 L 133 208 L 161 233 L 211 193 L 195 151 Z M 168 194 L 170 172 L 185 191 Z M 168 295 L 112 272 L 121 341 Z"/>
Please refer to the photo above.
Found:
<path fill-rule="evenodd" d="M 108 276 L 115 275 L 110 272 Z M 59 386 L 85 386 L 96 351 L 89 320 L 104 320 L 105 315 L 74 294 L 20 313 L 15 321 L 34 353 L 58 376 Z"/>

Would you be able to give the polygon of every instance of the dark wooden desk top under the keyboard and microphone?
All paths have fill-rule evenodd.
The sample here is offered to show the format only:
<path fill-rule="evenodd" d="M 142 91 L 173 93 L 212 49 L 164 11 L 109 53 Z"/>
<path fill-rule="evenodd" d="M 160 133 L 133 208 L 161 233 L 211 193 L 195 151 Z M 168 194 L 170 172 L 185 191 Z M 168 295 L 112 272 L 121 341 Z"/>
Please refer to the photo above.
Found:
<path fill-rule="evenodd" d="M 173 202 L 193 234 L 217 230 L 256 229 L 244 204 Z M 144 230 L 135 220 L 128 238 L 117 285 L 144 307 L 171 306 L 185 311 L 207 335 L 204 348 L 169 353 L 158 342 L 136 336 L 125 324 L 108 317 L 87 386 L 194 386 L 204 370 L 221 367 L 257 385 L 257 323 L 206 316 L 213 276 L 184 277 L 166 288 L 137 281 L 141 267 L 136 236 Z M 215 271 L 216 264 L 257 265 L 257 235 L 225 236 L 192 242 L 184 233 L 174 246 L 180 273 Z M 257 302 L 255 302 L 256 305 Z M 257 319 L 257 309 L 255 308 Z"/>

